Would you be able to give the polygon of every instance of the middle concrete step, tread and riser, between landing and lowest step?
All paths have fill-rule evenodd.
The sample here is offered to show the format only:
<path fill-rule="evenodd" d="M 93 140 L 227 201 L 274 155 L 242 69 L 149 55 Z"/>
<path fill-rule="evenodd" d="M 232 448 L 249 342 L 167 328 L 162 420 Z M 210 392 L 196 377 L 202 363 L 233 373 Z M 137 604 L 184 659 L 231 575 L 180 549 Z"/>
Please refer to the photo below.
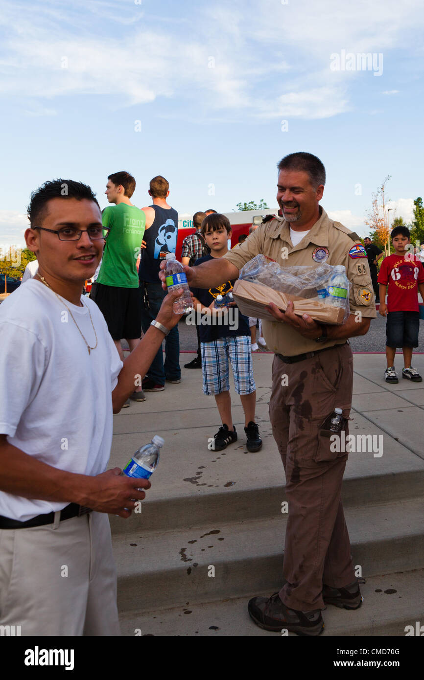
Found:
<path fill-rule="evenodd" d="M 424 565 L 424 500 L 346 508 L 354 564 L 364 577 Z M 286 519 L 114 536 L 120 611 L 180 606 L 278 590 Z M 214 566 L 214 577 L 208 576 Z"/>

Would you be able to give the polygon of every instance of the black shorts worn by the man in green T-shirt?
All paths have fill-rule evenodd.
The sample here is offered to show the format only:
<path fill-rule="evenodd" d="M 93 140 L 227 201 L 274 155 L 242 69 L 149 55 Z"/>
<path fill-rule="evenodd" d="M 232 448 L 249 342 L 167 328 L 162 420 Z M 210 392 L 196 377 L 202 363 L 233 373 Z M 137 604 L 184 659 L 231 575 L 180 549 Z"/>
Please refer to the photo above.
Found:
<path fill-rule="evenodd" d="M 91 295 L 101 309 L 112 339 L 134 340 L 142 335 L 142 296 L 138 288 L 96 284 Z"/>

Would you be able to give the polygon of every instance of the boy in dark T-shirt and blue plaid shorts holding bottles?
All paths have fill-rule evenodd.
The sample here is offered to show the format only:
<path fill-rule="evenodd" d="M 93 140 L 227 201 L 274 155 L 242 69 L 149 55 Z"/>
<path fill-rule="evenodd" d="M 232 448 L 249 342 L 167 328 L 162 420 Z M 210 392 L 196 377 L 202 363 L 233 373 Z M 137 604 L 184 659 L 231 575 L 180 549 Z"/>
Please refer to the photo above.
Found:
<path fill-rule="evenodd" d="M 228 252 L 227 240 L 231 238 L 231 225 L 225 215 L 212 213 L 201 223 L 201 233 L 210 247 L 210 255 L 197 260 L 195 266 L 212 258 L 221 258 Z M 197 314 L 201 314 L 199 332 L 203 393 L 214 395 L 222 422 L 214 438 L 211 437 L 208 447 L 214 451 L 222 451 L 228 444 L 237 441 L 229 394 L 230 362 L 235 391 L 240 394 L 244 410 L 247 449 L 256 452 L 261 448 L 262 440 L 255 423 L 256 388 L 248 319 L 235 305 L 229 309 L 216 309 L 214 305 L 216 296 L 227 294 L 233 288 L 233 283 L 227 281 L 222 286 L 209 290 L 192 289 Z"/>

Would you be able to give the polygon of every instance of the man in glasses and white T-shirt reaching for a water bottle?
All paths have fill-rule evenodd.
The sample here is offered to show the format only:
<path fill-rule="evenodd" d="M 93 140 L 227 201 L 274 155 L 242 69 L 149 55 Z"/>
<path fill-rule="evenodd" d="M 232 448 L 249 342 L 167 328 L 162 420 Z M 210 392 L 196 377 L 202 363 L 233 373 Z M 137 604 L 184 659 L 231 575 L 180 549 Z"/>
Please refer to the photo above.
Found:
<path fill-rule="evenodd" d="M 150 482 L 105 471 L 112 413 L 180 319 L 178 294 L 122 362 L 101 311 L 82 297 L 105 234 L 91 188 L 46 182 L 29 220 L 38 273 L 0 308 L 0 624 L 22 635 L 116 635 L 107 513 L 129 517 Z"/>

